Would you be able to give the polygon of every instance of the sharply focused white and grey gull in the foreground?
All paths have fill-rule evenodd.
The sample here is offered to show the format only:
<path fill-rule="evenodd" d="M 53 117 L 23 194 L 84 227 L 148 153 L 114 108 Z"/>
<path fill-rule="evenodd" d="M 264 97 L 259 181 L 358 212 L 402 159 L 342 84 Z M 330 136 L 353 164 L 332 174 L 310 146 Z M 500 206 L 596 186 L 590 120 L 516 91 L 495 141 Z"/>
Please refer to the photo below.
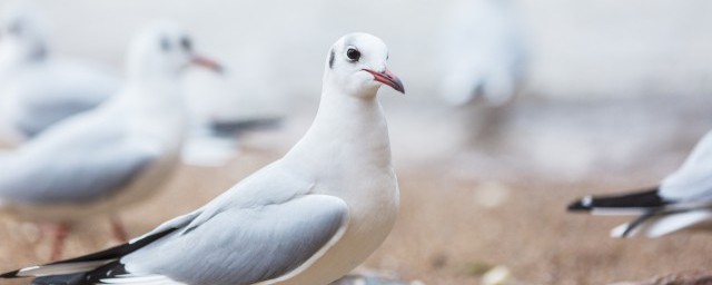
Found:
<path fill-rule="evenodd" d="M 398 212 L 388 129 L 376 98 L 386 45 L 349 33 L 328 51 L 319 108 L 277 161 L 204 207 L 125 245 L 27 267 L 36 284 L 328 284 L 364 262 Z"/>

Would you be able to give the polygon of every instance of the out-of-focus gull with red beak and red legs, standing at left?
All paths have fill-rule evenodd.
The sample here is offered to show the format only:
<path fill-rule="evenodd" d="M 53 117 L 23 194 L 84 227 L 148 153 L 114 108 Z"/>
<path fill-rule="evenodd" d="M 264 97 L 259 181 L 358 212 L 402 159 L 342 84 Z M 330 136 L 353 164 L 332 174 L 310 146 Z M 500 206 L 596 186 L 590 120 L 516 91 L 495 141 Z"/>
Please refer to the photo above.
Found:
<path fill-rule="evenodd" d="M 132 42 L 122 90 L 99 107 L 50 127 L 0 157 L 0 212 L 55 225 L 52 259 L 75 222 L 144 200 L 174 171 L 186 125 L 179 75 L 198 56 L 186 32 L 156 23 Z"/>

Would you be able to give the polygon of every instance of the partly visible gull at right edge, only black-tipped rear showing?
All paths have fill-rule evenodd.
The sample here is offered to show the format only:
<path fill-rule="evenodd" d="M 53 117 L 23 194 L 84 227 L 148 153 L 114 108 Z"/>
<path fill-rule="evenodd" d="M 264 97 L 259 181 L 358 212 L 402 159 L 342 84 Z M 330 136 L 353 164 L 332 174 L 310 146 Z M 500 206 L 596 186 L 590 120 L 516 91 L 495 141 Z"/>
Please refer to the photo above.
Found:
<path fill-rule="evenodd" d="M 613 196 L 587 196 L 568 206 L 571 212 L 637 215 L 615 227 L 612 237 L 639 233 L 655 238 L 685 228 L 709 228 L 712 222 L 712 131 L 692 150 L 682 167 L 659 186 Z"/>

